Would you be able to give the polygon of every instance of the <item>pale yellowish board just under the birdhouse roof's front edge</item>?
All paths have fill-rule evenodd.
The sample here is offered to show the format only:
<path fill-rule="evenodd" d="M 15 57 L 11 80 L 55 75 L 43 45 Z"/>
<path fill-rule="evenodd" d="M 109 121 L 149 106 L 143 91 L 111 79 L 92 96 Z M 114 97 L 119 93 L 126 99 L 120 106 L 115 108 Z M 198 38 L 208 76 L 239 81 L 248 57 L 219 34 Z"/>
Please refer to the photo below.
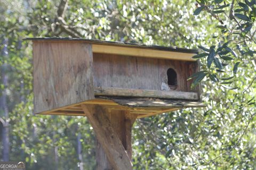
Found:
<path fill-rule="evenodd" d="M 145 48 L 132 48 L 132 47 L 118 47 L 111 45 L 92 45 L 93 53 L 102 54 L 117 54 L 123 56 L 137 56 L 137 57 L 147 57 L 147 58 L 163 58 L 169 60 L 179 60 L 179 61 L 196 61 L 192 58 L 193 53 L 181 53 L 181 52 L 169 52 L 166 50 L 156 50 L 156 49 L 145 49 Z"/>

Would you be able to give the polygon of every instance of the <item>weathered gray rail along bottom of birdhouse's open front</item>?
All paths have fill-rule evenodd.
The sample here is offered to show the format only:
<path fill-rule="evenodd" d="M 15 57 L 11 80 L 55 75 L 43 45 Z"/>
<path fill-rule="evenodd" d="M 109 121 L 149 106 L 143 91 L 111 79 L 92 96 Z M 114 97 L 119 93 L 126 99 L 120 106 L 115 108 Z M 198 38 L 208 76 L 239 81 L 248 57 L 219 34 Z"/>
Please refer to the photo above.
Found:
<path fill-rule="evenodd" d="M 142 89 L 123 89 L 109 87 L 94 87 L 95 96 L 121 96 L 121 97 L 150 97 L 162 99 L 198 100 L 196 92 L 161 91 Z"/>

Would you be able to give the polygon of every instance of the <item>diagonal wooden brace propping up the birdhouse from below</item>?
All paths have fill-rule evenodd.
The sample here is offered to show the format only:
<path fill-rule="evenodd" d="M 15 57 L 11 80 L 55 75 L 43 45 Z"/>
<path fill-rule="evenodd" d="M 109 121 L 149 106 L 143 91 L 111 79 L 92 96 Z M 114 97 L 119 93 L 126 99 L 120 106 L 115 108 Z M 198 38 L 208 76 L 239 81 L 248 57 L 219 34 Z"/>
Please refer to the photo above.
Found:
<path fill-rule="evenodd" d="M 128 155 L 126 152 L 122 141 L 118 138 L 118 135 L 105 113 L 105 109 L 99 105 L 88 106 L 82 104 L 81 107 L 91 123 L 111 166 L 116 170 L 132 169 L 132 162 L 129 158 L 131 153 Z"/>

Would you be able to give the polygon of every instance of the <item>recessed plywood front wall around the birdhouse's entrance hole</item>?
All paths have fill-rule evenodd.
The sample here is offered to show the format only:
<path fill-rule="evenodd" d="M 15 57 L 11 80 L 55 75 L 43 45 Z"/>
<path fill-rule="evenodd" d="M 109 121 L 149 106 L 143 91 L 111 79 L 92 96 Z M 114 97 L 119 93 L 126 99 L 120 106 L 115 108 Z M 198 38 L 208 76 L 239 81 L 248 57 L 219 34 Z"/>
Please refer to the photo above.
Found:
<path fill-rule="evenodd" d="M 93 83 L 95 87 L 162 90 L 167 84 L 167 70 L 177 73 L 175 91 L 197 92 L 191 89 L 188 77 L 198 69 L 197 62 L 141 58 L 93 53 Z"/>

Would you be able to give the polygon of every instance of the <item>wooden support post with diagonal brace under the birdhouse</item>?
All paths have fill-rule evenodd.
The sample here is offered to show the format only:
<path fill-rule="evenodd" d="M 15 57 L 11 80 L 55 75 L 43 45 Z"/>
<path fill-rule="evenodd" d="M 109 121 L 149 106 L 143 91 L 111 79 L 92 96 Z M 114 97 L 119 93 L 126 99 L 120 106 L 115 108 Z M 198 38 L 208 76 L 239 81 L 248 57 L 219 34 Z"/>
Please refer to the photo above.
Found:
<path fill-rule="evenodd" d="M 136 116 L 106 112 L 100 105 L 81 105 L 97 137 L 97 169 L 132 169 L 131 130 Z"/>

